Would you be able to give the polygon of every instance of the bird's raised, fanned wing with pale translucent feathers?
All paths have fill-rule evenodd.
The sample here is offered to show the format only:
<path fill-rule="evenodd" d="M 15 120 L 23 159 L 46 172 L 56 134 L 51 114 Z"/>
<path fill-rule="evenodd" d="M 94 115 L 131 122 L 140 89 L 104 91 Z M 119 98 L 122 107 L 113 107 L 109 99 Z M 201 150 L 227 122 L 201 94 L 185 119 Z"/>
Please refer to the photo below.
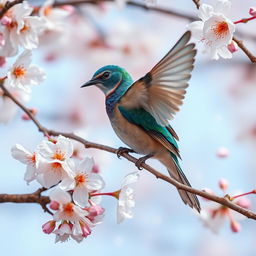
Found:
<path fill-rule="evenodd" d="M 132 84 L 122 97 L 123 106 L 143 108 L 158 124 L 169 125 L 182 104 L 193 69 L 196 50 L 195 44 L 188 44 L 190 37 L 186 32 L 150 72 Z"/>

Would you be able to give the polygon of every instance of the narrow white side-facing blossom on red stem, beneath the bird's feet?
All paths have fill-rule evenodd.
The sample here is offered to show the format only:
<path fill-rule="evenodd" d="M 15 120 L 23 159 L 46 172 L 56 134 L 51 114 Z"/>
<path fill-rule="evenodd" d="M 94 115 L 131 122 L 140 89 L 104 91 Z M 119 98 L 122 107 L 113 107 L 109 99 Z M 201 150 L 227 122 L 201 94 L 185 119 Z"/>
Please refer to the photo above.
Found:
<path fill-rule="evenodd" d="M 128 174 L 122 183 L 121 190 L 118 196 L 117 206 L 117 223 L 121 223 L 124 219 L 133 217 L 132 208 L 135 206 L 134 189 L 130 187 L 138 181 L 138 172 Z"/>

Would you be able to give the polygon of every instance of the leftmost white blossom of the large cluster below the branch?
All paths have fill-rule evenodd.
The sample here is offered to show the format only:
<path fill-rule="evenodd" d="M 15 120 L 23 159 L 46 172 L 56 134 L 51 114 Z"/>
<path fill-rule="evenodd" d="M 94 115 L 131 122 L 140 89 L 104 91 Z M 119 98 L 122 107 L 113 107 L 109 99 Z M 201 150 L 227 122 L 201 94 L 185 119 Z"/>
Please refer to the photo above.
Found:
<path fill-rule="evenodd" d="M 39 156 L 36 152 L 30 152 L 22 145 L 16 144 L 12 150 L 13 158 L 19 160 L 21 163 L 27 165 L 27 170 L 24 175 L 24 180 L 29 184 L 36 179 L 37 168 L 39 163 Z"/>

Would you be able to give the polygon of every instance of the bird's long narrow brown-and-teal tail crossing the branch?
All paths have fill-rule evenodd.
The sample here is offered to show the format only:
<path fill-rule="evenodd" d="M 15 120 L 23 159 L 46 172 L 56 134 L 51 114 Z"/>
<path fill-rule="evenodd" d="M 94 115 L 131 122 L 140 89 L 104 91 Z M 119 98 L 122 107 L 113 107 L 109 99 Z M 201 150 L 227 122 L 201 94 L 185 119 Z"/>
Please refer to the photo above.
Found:
<path fill-rule="evenodd" d="M 161 162 L 167 167 L 172 178 L 184 185 L 191 187 L 188 179 L 179 165 L 178 158 L 174 154 L 171 153 L 171 157 L 168 157 L 168 160 L 164 159 Z M 178 189 L 178 192 L 185 204 L 188 204 L 191 208 L 195 208 L 200 213 L 201 207 L 196 195 L 181 189 Z"/>

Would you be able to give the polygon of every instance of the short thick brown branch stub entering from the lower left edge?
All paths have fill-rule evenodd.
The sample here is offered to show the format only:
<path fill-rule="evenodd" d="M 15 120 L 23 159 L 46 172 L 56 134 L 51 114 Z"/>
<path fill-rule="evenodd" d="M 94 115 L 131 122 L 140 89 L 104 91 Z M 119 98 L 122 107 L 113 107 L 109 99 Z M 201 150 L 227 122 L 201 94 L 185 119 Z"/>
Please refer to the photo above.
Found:
<path fill-rule="evenodd" d="M 0 203 L 37 203 L 40 204 L 45 212 L 53 215 L 52 212 L 47 208 L 47 204 L 50 203 L 48 196 L 41 196 L 46 188 L 39 188 L 34 193 L 30 194 L 0 194 Z"/>

